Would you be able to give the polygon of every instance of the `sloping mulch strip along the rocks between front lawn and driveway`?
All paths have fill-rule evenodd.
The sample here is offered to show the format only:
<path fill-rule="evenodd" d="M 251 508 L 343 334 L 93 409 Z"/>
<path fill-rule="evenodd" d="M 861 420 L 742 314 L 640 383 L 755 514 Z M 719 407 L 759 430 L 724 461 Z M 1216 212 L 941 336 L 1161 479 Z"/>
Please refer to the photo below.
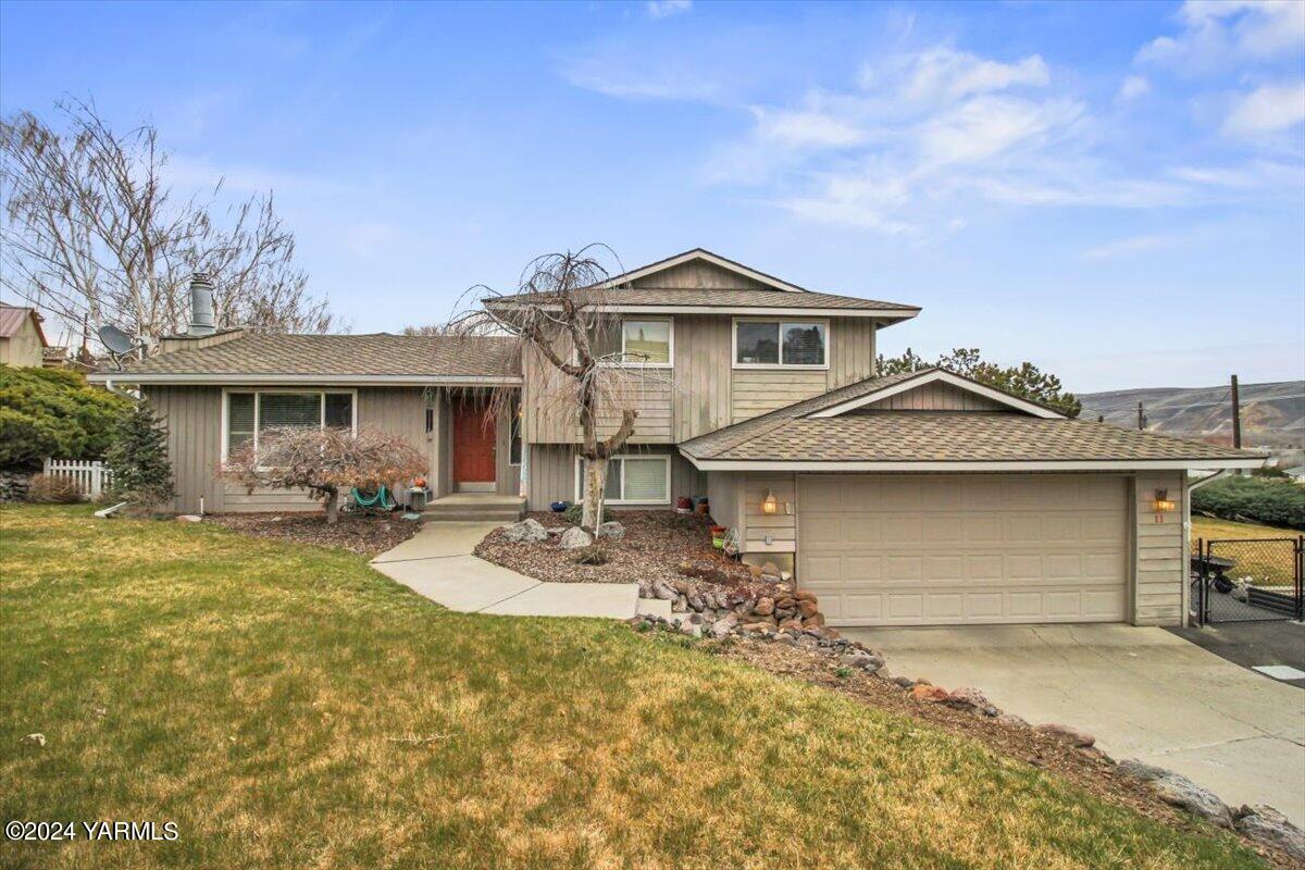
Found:
<path fill-rule="evenodd" d="M 793 677 L 823 689 L 848 695 L 861 703 L 921 719 L 954 734 L 977 740 L 989 749 L 1017 758 L 1034 767 L 1064 776 L 1079 788 L 1182 831 L 1208 832 L 1212 824 L 1165 803 L 1148 785 L 1117 771 L 1111 759 L 1095 749 L 1074 746 L 1032 729 L 1011 728 L 970 710 L 957 710 L 944 703 L 920 700 L 910 691 L 881 676 L 853 670 L 838 676 L 829 656 L 782 643 L 727 638 L 702 642 L 705 648 L 744 661 L 770 673 Z M 891 667 L 891 651 L 887 651 Z M 886 673 L 886 672 L 881 672 Z M 910 676 L 910 674 L 908 674 Z M 949 686 L 955 689 L 957 686 Z M 1279 867 L 1296 867 L 1284 852 L 1262 848 L 1249 840 L 1242 843 Z"/>

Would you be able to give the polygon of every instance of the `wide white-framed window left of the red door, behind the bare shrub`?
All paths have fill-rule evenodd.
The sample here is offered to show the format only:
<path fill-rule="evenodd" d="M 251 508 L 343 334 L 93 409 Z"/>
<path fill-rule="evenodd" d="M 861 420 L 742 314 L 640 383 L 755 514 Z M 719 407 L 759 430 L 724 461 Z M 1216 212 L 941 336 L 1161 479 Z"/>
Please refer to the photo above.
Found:
<path fill-rule="evenodd" d="M 223 459 L 269 429 L 354 429 L 354 393 L 325 390 L 251 390 L 226 394 Z"/>

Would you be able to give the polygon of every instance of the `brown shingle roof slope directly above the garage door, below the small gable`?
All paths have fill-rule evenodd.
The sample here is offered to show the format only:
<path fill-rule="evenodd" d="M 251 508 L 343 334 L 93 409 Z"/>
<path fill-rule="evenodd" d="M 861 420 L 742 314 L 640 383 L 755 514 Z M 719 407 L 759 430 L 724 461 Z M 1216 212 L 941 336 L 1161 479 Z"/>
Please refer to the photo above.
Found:
<path fill-rule="evenodd" d="M 1108 423 L 1005 412 L 881 411 L 769 425 L 699 459 L 1073 462 L 1246 459 L 1251 454 Z"/>

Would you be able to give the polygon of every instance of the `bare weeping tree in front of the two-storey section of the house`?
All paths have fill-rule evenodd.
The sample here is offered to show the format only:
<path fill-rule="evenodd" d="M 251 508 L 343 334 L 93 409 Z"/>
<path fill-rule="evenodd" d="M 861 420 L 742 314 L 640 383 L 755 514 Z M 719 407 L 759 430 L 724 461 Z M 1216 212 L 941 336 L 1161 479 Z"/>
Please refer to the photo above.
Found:
<path fill-rule="evenodd" d="M 530 387 L 538 390 L 531 397 L 531 411 L 539 420 L 560 419 L 579 428 L 577 453 L 585 460 L 582 524 L 590 528 L 602 522 L 608 462 L 634 433 L 639 391 L 666 380 L 656 369 L 639 365 L 646 356 L 620 350 L 619 318 L 612 305 L 613 293 L 620 291 L 613 290 L 600 254 L 616 260 L 606 245 L 536 257 L 509 293 L 472 287 L 463 300 L 478 305 L 455 314 L 448 325 L 454 335 L 504 335 L 514 340 L 514 352 L 504 359 L 506 365 L 519 364 Z M 513 394 L 492 394 L 495 410 L 510 402 Z"/>

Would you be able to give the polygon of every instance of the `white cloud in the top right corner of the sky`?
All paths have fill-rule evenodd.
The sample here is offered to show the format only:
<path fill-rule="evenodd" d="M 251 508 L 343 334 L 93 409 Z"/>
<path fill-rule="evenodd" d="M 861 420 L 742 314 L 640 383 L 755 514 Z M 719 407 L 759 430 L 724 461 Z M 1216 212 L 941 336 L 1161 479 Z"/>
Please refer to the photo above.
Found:
<path fill-rule="evenodd" d="M 1305 46 L 1300 0 L 1188 0 L 1181 33 L 1142 47 L 1138 61 L 1194 73 L 1242 60 L 1266 61 Z"/>

